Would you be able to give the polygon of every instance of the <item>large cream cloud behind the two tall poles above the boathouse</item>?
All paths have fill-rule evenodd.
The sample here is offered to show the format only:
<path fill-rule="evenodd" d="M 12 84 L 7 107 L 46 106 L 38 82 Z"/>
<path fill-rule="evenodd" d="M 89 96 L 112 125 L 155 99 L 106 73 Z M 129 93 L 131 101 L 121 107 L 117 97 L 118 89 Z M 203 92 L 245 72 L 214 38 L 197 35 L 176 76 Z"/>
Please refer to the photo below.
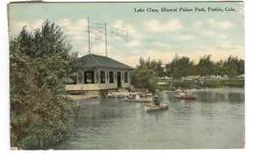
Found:
<path fill-rule="evenodd" d="M 86 19 L 73 22 L 69 19 L 63 19 L 57 23 L 67 34 L 71 44 L 73 44 L 73 50 L 79 50 L 81 53 L 88 52 L 88 24 Z M 90 51 L 94 54 L 105 54 L 105 26 L 95 23 L 90 25 Z M 113 24 L 107 25 L 107 32 L 108 41 L 112 43 L 113 41 L 115 41 L 114 43 L 119 41 L 125 48 L 137 47 L 141 44 L 139 39 L 143 37 L 143 34 L 137 31 L 134 26 L 125 23 L 123 20 L 116 20 Z M 128 42 L 128 37 L 131 40 L 130 42 Z M 108 50 L 113 50 L 111 52 L 114 52 L 114 48 L 111 48 L 109 43 Z"/>

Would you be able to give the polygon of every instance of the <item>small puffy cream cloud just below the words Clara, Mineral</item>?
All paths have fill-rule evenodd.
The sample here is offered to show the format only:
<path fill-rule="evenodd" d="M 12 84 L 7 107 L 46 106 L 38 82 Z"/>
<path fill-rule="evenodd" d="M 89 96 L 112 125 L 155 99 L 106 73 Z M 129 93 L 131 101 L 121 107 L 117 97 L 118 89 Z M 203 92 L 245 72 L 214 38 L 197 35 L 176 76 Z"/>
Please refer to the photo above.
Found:
<path fill-rule="evenodd" d="M 158 20 L 150 20 L 145 24 L 148 31 L 164 32 L 164 31 L 177 31 L 183 29 L 179 20 L 170 20 L 166 23 L 160 23 Z"/>

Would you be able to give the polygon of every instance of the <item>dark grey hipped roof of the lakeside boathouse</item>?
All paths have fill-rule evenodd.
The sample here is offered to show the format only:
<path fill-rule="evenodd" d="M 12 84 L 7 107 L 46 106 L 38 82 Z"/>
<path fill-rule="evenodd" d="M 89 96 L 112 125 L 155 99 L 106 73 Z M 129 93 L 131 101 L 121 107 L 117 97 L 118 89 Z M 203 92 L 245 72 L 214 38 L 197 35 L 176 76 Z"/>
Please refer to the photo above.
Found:
<path fill-rule="evenodd" d="M 131 66 L 127 66 L 117 60 L 113 60 L 107 56 L 97 55 L 97 54 L 87 54 L 80 57 L 77 60 L 77 66 L 80 68 L 88 67 L 111 67 L 111 68 L 123 68 L 133 70 Z"/>

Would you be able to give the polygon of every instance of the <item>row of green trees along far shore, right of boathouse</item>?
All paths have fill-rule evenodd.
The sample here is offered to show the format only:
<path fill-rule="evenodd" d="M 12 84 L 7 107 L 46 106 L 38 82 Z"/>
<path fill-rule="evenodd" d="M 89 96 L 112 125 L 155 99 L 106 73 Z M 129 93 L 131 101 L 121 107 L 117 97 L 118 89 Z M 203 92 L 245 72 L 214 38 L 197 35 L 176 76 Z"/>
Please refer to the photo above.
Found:
<path fill-rule="evenodd" d="M 244 74 L 244 60 L 230 55 L 226 60 L 213 61 L 211 54 L 201 56 L 197 64 L 190 60 L 188 56 L 178 56 L 177 54 L 167 64 L 161 60 L 144 60 L 142 57 L 139 64 L 131 75 L 131 83 L 137 88 L 149 88 L 154 90 L 160 77 L 172 77 L 180 81 L 182 77 L 189 76 L 203 77 L 214 75 L 215 77 L 234 78 Z"/>

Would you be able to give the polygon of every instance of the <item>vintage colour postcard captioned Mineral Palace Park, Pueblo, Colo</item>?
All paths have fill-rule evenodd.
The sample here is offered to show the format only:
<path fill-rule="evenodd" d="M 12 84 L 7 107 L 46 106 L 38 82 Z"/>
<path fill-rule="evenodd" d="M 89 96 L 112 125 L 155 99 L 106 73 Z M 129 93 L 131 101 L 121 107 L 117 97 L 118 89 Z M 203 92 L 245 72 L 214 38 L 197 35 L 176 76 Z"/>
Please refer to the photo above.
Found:
<path fill-rule="evenodd" d="M 244 148 L 243 6 L 9 3 L 11 150 Z"/>

